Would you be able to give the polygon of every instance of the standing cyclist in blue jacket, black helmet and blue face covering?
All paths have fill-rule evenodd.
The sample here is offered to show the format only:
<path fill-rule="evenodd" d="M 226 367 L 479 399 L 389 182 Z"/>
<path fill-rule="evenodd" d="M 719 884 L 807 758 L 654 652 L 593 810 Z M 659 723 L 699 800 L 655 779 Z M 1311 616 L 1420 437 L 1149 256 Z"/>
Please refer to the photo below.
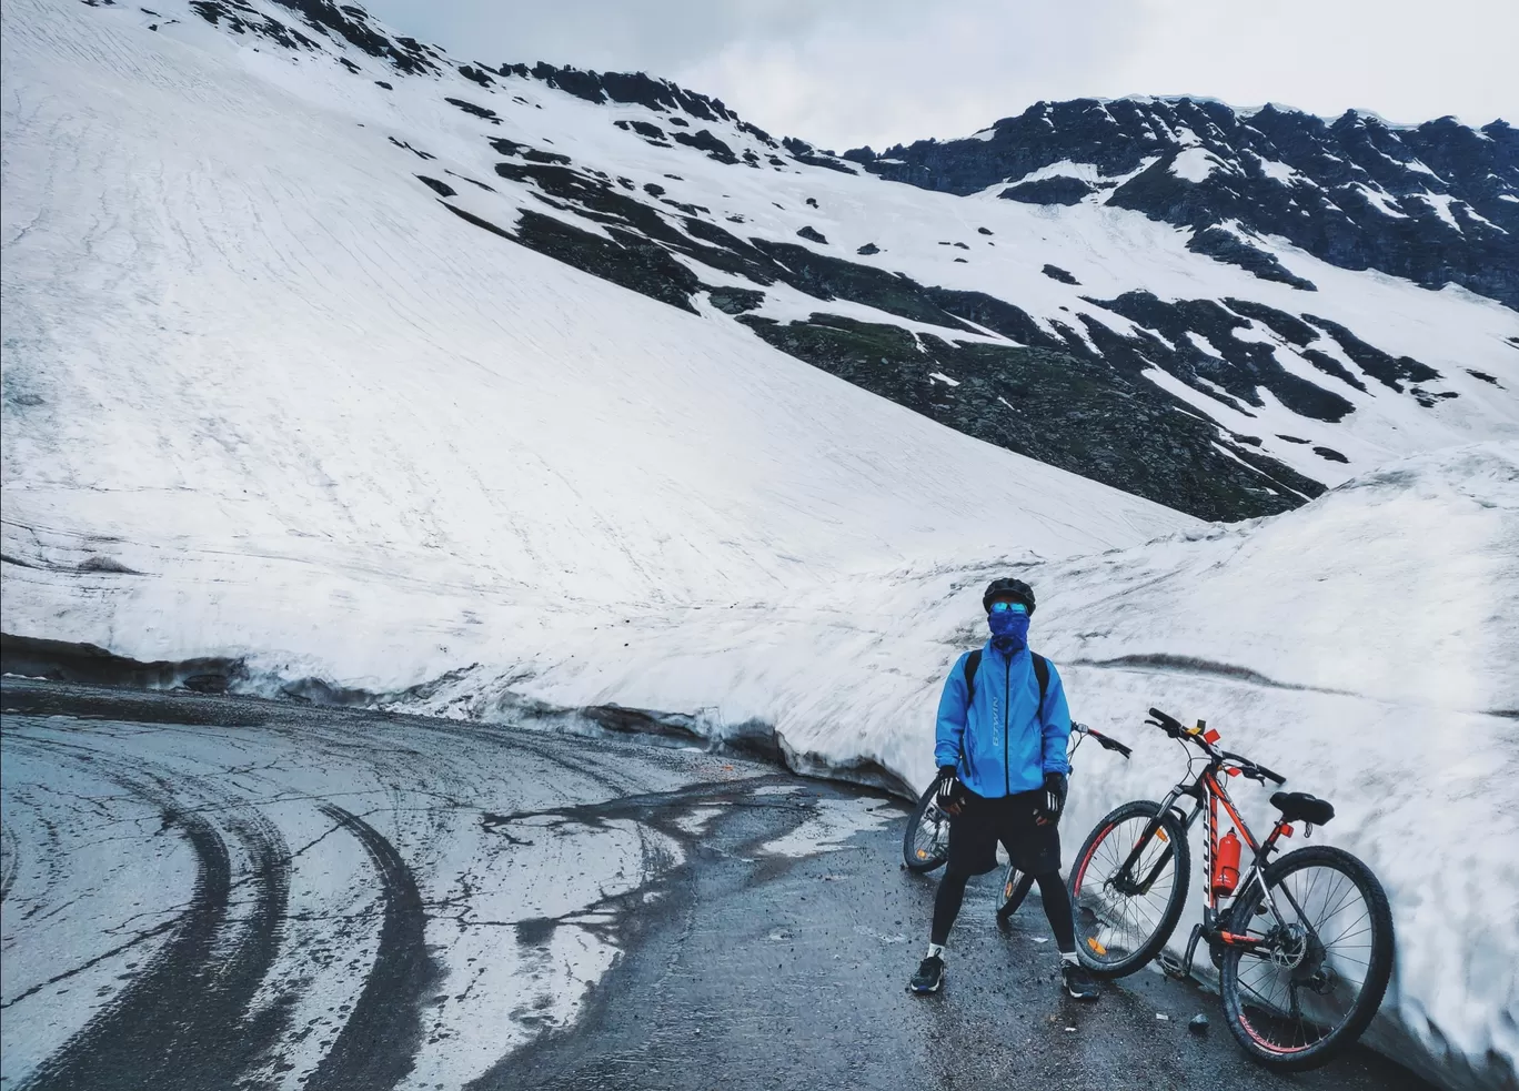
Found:
<path fill-rule="evenodd" d="M 996 866 L 1001 842 L 1013 862 L 1039 883 L 1039 897 L 1060 950 L 1060 980 L 1080 1000 L 1097 998 L 1097 983 L 1075 957 L 1071 897 L 1060 880 L 1060 812 L 1065 807 L 1066 742 L 1071 713 L 1054 666 L 1034 666 L 1028 621 L 1034 592 L 1022 580 L 993 580 L 981 596 L 990 640 L 968 684 L 962 656 L 939 701 L 934 760 L 937 803 L 949 815 L 949 859 L 934 897 L 928 954 L 908 989 L 943 985 L 945 944 L 960 913 L 965 885 Z M 1044 683 L 1045 675 L 1048 680 Z"/>

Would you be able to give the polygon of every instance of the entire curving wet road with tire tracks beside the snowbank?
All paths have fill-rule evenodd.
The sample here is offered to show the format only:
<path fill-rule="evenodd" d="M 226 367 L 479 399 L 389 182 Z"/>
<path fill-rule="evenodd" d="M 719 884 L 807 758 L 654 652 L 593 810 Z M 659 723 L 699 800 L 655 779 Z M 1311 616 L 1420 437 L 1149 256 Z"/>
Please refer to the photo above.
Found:
<path fill-rule="evenodd" d="M 902 809 L 741 759 L 6 680 L 5 1088 L 1414 1088 L 1217 1001 L 1053 982 L 972 888 L 942 997 Z M 1185 1023 L 1208 1012 L 1205 1036 Z M 1168 1015 L 1168 1021 L 1156 1018 Z"/>

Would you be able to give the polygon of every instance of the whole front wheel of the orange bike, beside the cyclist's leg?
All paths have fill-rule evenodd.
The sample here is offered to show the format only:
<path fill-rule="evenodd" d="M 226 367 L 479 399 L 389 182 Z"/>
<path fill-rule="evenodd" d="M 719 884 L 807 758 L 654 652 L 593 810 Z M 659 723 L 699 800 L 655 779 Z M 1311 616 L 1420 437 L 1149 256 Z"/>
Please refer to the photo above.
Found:
<path fill-rule="evenodd" d="M 1069 879 L 1082 965 L 1124 977 L 1159 954 L 1182 917 L 1189 869 L 1186 827 L 1161 804 L 1136 800 L 1103 818 Z"/>

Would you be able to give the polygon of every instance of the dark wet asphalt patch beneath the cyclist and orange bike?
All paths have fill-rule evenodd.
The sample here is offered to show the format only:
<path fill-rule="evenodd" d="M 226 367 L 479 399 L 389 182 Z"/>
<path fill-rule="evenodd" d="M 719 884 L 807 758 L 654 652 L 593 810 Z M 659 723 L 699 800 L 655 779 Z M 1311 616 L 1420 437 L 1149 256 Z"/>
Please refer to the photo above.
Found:
<path fill-rule="evenodd" d="M 996 927 L 996 874 L 966 892 L 943 992 L 907 994 L 936 877 L 899 866 L 902 821 L 857 833 L 840 851 L 756 865 L 744 854 L 766 819 L 731 810 L 661 909 L 636 923 L 586 1017 L 471 1086 L 1429 1086 L 1366 1049 L 1318 1071 L 1265 1071 L 1235 1045 L 1215 995 L 1157 973 L 1072 1000 L 1057 988 L 1037 894 L 1007 930 Z M 1205 1033 L 1188 1029 L 1197 1014 L 1209 1018 Z"/>

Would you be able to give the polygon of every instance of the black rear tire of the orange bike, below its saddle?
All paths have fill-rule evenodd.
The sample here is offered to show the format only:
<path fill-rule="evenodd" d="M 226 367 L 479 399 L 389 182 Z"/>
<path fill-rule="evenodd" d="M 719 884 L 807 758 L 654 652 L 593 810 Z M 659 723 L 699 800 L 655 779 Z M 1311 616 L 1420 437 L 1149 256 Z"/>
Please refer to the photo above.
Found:
<path fill-rule="evenodd" d="M 1244 994 L 1249 992 L 1255 997 L 1261 997 L 1262 1000 L 1265 995 L 1261 994 L 1253 985 L 1241 983 L 1241 964 L 1244 964 L 1246 959 L 1250 959 L 1256 967 L 1264 967 L 1265 961 L 1244 951 L 1240 947 L 1226 947 L 1223 968 L 1220 971 L 1220 991 L 1223 992 L 1224 1020 L 1229 1023 L 1229 1030 L 1233 1033 L 1240 1045 L 1244 1047 L 1246 1053 L 1249 1053 L 1255 1061 L 1281 1071 L 1303 1071 L 1306 1068 L 1317 1068 L 1318 1065 L 1334 1059 L 1349 1045 L 1355 1044 L 1355 1041 L 1366 1032 L 1366 1027 L 1372 1023 L 1372 1018 L 1376 1015 L 1376 1009 L 1381 1008 L 1382 997 L 1387 992 L 1387 982 L 1393 973 L 1393 912 L 1387 903 L 1387 892 L 1382 889 L 1382 883 L 1376 879 L 1372 869 L 1343 848 L 1334 848 L 1331 845 L 1299 848 L 1297 851 L 1279 857 L 1265 868 L 1265 885 L 1273 891 L 1274 901 L 1279 907 L 1284 907 L 1284 903 L 1287 903 L 1287 898 L 1284 897 L 1284 885 L 1287 885 L 1287 880 L 1293 874 L 1306 868 L 1320 868 L 1329 872 L 1338 872 L 1349 880 L 1366 903 L 1366 921 L 1370 930 L 1370 939 L 1367 941 L 1366 977 L 1361 982 L 1360 994 L 1355 997 L 1349 1012 L 1343 1017 L 1343 1021 L 1325 1033 L 1325 1036 L 1300 1047 L 1284 1047 L 1284 1044 L 1268 1042 L 1265 1039 L 1264 1029 L 1268 1020 L 1274 1017 L 1265 1012 L 1262 1005 L 1247 1003 Z M 1287 889 L 1291 888 L 1288 886 Z M 1306 895 L 1302 894 L 1297 897 L 1299 903 L 1308 900 Z M 1340 906 L 1332 909 L 1328 904 L 1329 895 L 1323 897 L 1331 918 L 1341 917 L 1346 912 L 1343 897 Z M 1252 894 L 1241 901 L 1236 901 L 1230 909 L 1229 932 L 1235 935 L 1247 935 L 1252 927 L 1259 932 L 1261 915 L 1258 913 L 1258 909 L 1264 906 L 1264 903 L 1265 898 L 1259 888 L 1252 888 Z M 1293 912 L 1290 904 L 1291 903 L 1287 903 L 1288 907 L 1282 909 L 1284 913 Z M 1340 933 L 1344 935 L 1352 929 L 1358 929 L 1360 921 L 1346 921 L 1341 918 L 1329 927 L 1337 927 Z M 1318 932 L 1318 926 L 1315 926 L 1315 932 Z M 1356 948 L 1358 947 L 1360 945 L 1356 945 Z M 1353 965 L 1353 962 L 1347 959 L 1344 965 Z M 1285 970 L 1285 967 L 1274 964 L 1273 968 L 1277 970 L 1277 973 Z M 1299 971 L 1294 970 L 1288 976 L 1294 977 L 1297 973 Z M 1288 988 L 1291 995 L 1291 986 Z M 1258 1011 L 1250 1012 L 1249 1009 Z M 1285 1020 L 1277 1021 L 1285 1023 Z M 1299 1018 L 1297 1023 L 1300 1027 L 1303 1026 L 1302 1018 Z"/>

